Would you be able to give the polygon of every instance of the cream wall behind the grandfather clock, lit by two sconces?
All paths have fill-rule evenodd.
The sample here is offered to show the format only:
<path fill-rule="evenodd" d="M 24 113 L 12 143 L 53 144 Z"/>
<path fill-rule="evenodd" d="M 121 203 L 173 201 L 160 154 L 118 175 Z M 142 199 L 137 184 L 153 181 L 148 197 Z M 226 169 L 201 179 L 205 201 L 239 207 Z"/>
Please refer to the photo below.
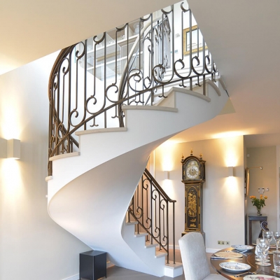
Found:
<path fill-rule="evenodd" d="M 168 143 L 168 142 L 167 142 Z M 155 179 L 166 193 L 176 200 L 176 245 L 184 230 L 185 193 L 181 182 L 181 155 L 203 154 L 206 160 L 203 214 L 206 247 L 208 251 L 244 244 L 244 148 L 243 137 L 211 139 L 182 144 L 162 144 L 155 150 Z M 235 176 L 228 177 L 228 166 L 235 167 Z M 170 180 L 164 179 L 164 170 L 170 171 Z"/>

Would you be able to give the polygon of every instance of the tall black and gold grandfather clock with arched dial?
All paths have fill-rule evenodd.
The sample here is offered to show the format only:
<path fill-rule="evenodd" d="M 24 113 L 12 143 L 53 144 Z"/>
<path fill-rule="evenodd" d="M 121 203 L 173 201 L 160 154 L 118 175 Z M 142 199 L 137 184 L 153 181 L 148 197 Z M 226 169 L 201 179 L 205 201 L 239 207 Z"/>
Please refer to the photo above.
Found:
<path fill-rule="evenodd" d="M 182 155 L 182 183 L 185 185 L 185 231 L 203 232 L 202 219 L 202 199 L 203 199 L 203 183 L 205 182 L 205 160 L 193 155 L 193 150 L 190 151 L 188 158 L 183 158 Z"/>

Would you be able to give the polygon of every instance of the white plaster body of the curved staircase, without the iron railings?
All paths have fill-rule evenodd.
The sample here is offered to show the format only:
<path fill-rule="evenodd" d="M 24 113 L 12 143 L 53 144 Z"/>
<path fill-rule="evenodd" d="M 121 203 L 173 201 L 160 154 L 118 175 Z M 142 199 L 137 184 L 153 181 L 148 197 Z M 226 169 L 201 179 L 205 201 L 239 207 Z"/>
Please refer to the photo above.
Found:
<path fill-rule="evenodd" d="M 163 269 L 155 271 L 124 241 L 125 213 L 151 151 L 223 109 L 226 93 L 219 96 L 209 88 L 208 94 L 173 89 L 169 106 L 173 100 L 178 110 L 126 106 L 127 131 L 80 135 L 80 156 L 53 161 L 48 181 L 52 219 L 91 248 L 108 252 L 116 265 L 162 276 Z M 197 114 L 198 109 L 203 113 Z"/>

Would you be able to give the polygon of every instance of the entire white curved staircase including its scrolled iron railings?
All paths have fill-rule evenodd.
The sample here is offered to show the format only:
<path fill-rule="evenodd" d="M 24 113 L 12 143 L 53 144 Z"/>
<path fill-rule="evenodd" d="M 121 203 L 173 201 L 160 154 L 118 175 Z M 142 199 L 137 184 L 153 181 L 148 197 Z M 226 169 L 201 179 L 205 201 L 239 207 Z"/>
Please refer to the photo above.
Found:
<path fill-rule="evenodd" d="M 169 223 L 158 228 L 157 203 L 141 211 L 135 203 L 131 212 L 149 155 L 173 135 L 214 118 L 228 100 L 184 6 L 176 3 L 65 48 L 49 82 L 50 216 L 92 249 L 106 251 L 113 264 L 156 276 L 178 276 L 183 269 L 169 262 Z M 175 201 L 168 202 L 173 208 Z M 135 233 L 137 222 L 125 219 L 129 207 L 142 227 L 142 214 L 149 212 L 146 230 L 166 253 L 146 244 L 138 225 Z"/>

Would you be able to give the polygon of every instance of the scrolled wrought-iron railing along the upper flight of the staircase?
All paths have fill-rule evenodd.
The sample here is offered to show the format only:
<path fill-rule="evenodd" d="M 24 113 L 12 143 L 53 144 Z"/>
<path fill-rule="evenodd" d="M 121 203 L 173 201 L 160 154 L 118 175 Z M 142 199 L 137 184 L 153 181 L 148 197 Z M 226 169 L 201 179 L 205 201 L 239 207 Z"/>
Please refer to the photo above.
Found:
<path fill-rule="evenodd" d="M 49 158 L 75 151 L 78 130 L 124 127 L 122 106 L 153 106 L 175 85 L 206 94 L 217 74 L 186 1 L 76 43 L 50 74 Z"/>

